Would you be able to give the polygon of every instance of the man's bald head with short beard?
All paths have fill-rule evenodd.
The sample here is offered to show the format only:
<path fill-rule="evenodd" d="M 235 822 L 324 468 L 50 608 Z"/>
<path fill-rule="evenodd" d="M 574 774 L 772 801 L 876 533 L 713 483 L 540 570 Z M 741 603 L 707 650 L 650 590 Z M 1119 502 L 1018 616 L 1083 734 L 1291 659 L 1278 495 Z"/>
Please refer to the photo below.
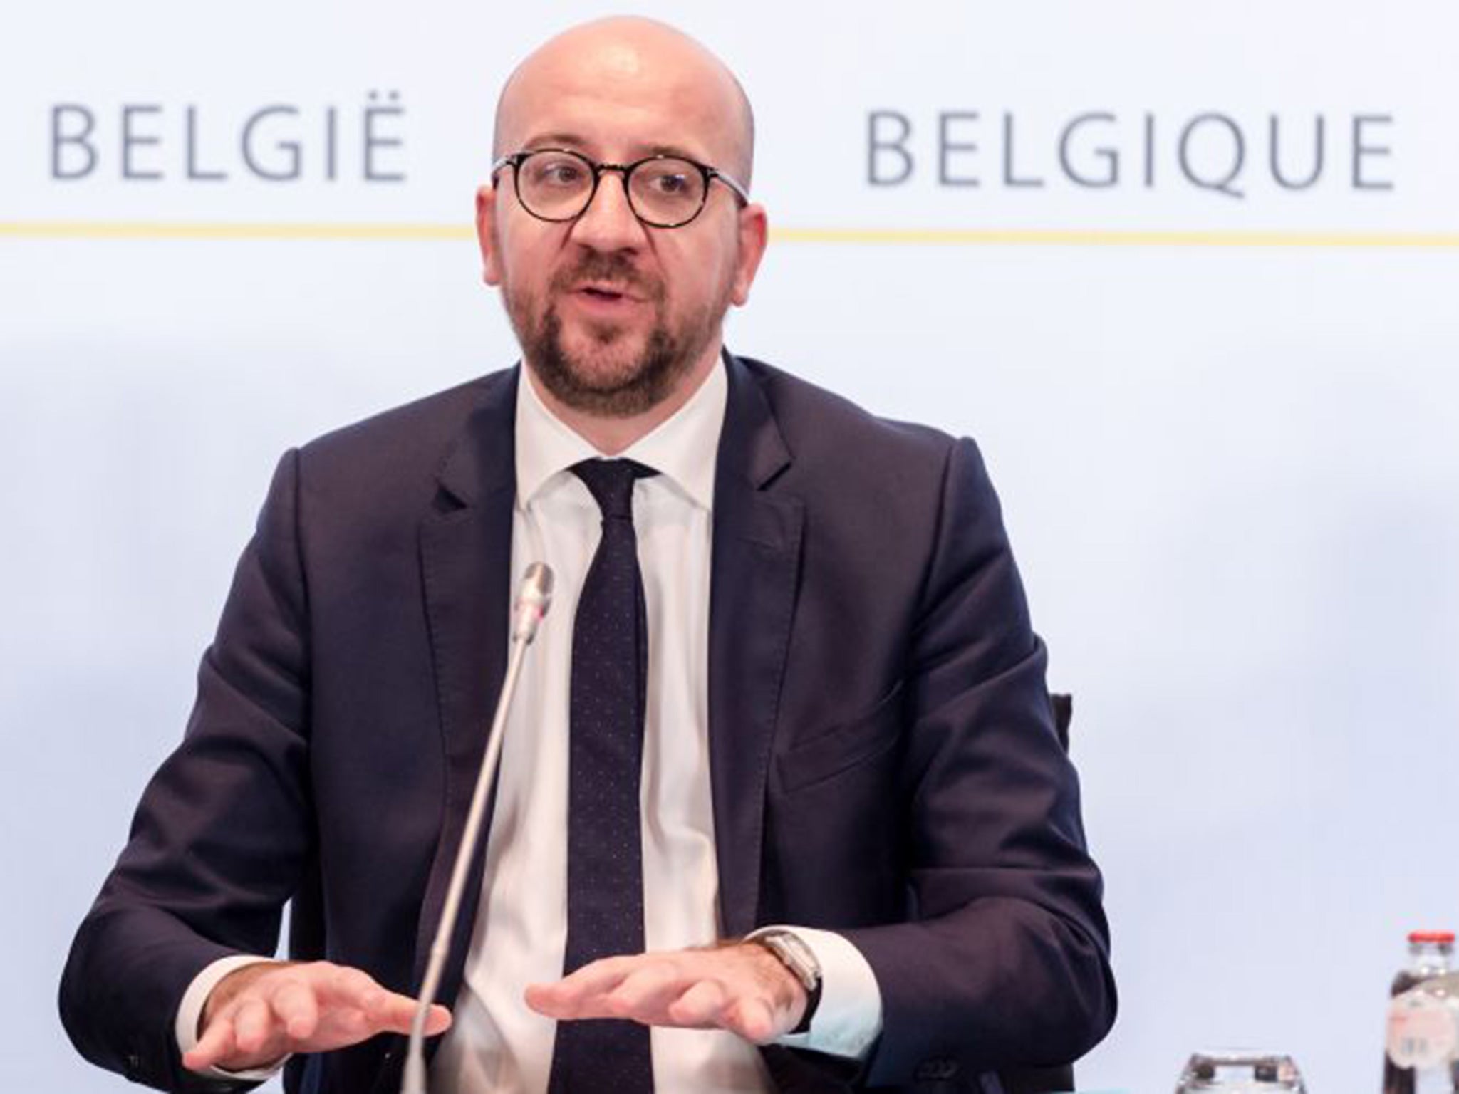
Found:
<path fill-rule="evenodd" d="M 713 54 L 664 23 L 614 18 L 518 66 L 498 104 L 493 159 L 568 149 L 627 165 L 665 153 L 748 187 L 753 144 L 750 104 Z M 693 220 L 651 228 L 622 174 L 603 172 L 582 216 L 547 222 L 524 207 L 515 172 L 503 166 L 477 193 L 477 232 L 486 282 L 502 287 L 541 387 L 603 419 L 683 403 L 713 365 L 725 311 L 748 299 L 765 212 L 712 179 Z"/>

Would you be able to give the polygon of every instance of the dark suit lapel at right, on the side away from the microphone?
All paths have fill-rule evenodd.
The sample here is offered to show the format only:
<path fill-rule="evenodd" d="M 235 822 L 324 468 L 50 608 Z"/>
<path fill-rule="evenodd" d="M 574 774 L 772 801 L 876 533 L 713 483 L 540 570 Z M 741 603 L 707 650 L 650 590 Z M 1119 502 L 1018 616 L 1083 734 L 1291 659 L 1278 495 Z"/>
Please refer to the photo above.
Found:
<path fill-rule="evenodd" d="M 789 451 L 765 392 L 728 353 L 715 470 L 709 589 L 709 767 L 719 910 L 728 935 L 756 925 L 770 741 L 800 578 L 802 506 L 766 490 Z"/>

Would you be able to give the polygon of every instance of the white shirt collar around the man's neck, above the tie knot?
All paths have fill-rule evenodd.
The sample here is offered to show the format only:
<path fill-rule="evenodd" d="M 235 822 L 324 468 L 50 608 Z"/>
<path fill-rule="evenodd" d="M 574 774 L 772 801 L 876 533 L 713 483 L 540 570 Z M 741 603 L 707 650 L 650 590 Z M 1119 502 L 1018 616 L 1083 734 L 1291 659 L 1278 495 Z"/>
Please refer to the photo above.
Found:
<path fill-rule="evenodd" d="M 652 467 L 694 505 L 713 511 L 715 459 L 728 391 L 721 359 L 684 406 L 619 455 Z M 516 385 L 516 503 L 525 506 L 554 476 L 603 455 L 547 408 L 522 365 Z"/>

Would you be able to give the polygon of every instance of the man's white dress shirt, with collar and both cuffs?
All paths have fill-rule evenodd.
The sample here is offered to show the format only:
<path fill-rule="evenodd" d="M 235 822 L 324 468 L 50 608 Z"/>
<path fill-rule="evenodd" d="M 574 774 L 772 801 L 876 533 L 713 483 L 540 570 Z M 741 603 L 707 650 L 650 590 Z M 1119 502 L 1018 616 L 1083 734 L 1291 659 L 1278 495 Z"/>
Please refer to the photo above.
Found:
<path fill-rule="evenodd" d="M 716 366 L 673 417 L 620 454 L 658 471 L 633 487 L 649 652 L 641 799 L 649 951 L 722 936 L 708 683 L 713 483 L 727 388 L 724 366 Z M 454 1001 L 455 1021 L 430 1069 L 436 1094 L 543 1094 L 552 1069 L 556 1023 L 531 1011 L 522 992 L 562 976 L 572 623 L 601 535 L 598 505 L 570 467 L 601 454 L 552 414 L 525 369 L 515 446 L 512 575 L 544 562 L 553 569 L 554 592 L 506 721 L 465 977 Z M 881 1028 L 871 967 L 839 935 L 794 929 L 821 966 L 821 1002 L 810 1031 L 782 1043 L 864 1055 Z M 194 980 L 178 1014 L 184 1052 L 196 1043 L 207 992 L 248 960 L 254 958 L 225 958 Z M 657 1090 L 772 1088 L 759 1052 L 735 1034 L 655 1027 L 651 1043 Z"/>

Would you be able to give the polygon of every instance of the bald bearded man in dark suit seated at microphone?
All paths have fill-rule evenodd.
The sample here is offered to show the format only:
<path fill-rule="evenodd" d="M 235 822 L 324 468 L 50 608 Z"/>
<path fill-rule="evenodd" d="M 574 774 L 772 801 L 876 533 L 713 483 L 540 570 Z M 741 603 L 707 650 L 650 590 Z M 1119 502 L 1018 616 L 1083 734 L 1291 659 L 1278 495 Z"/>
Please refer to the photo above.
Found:
<path fill-rule="evenodd" d="M 512 74 L 477 225 L 527 368 L 280 464 L 73 947 L 89 1058 L 398 1084 L 538 559 L 560 591 L 433 1090 L 995 1091 L 1107 1030 L 1099 874 L 976 449 L 722 350 L 766 244 L 751 144 L 734 77 L 659 23 Z M 301 960 L 260 960 L 287 900 Z"/>

